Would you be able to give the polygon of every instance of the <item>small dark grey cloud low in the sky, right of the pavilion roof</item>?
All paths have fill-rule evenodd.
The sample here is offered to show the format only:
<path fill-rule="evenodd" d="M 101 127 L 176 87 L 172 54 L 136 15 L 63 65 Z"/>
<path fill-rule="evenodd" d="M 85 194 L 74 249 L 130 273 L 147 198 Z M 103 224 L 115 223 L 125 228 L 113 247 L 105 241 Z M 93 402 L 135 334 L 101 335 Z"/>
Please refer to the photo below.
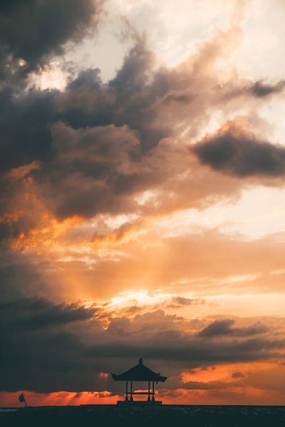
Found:
<path fill-rule="evenodd" d="M 212 338 L 227 335 L 232 337 L 249 337 L 269 331 L 268 327 L 260 322 L 248 327 L 234 327 L 234 323 L 235 320 L 232 319 L 214 320 L 214 322 L 204 327 L 198 333 L 198 337 Z"/>

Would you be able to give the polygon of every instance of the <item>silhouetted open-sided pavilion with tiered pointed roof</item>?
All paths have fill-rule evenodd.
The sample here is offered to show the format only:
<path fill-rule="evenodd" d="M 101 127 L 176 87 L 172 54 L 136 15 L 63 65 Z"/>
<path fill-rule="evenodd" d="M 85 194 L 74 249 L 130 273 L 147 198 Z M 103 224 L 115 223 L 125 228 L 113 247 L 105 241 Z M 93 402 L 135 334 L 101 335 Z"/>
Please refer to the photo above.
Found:
<path fill-rule="evenodd" d="M 167 379 L 166 376 L 161 376 L 160 373 L 152 371 L 142 364 L 142 359 L 139 359 L 139 363 L 135 367 L 125 371 L 123 374 L 116 375 L 111 374 L 115 381 L 125 381 L 125 403 L 133 402 L 134 394 L 147 394 L 148 403 L 161 404 L 161 402 L 155 401 L 155 383 L 158 381 L 164 382 Z M 133 391 L 133 381 L 147 381 L 148 391 Z M 128 383 L 130 382 L 130 390 Z M 152 390 L 150 390 L 150 384 L 152 383 Z M 130 396 L 130 398 L 129 398 Z M 151 396 L 151 397 L 150 397 Z M 122 403 L 122 402 L 118 402 Z"/>

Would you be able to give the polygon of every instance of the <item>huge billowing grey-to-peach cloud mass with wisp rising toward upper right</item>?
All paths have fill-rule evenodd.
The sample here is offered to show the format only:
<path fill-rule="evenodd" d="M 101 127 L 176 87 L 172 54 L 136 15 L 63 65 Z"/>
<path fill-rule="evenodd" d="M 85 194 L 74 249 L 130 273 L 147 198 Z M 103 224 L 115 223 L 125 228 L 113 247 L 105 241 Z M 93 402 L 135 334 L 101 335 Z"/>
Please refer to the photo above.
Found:
<path fill-rule="evenodd" d="M 2 236 L 27 233 L 36 224 L 43 228 L 45 210 L 59 220 L 157 214 L 200 207 L 209 196 L 237 195 L 240 183 L 207 176 L 176 138 L 200 135 L 212 108 L 222 105 L 227 85 L 218 88 L 215 67 L 239 36 L 237 28 L 214 33 L 175 69 L 158 67 L 140 38 L 108 83 L 100 79 L 100 70 L 88 69 L 70 78 L 62 92 L 31 88 L 15 97 L 12 88 L 1 90 L 5 177 L 0 215 L 14 218 L 2 226 Z M 64 142 L 68 138 L 72 142 Z M 27 169 L 31 164 L 41 167 Z M 19 168 L 29 171 L 29 181 L 12 185 L 8 177 L 11 170 L 19 174 Z M 135 197 L 152 189 L 157 191 L 153 203 L 138 206 Z M 21 206 L 25 193 L 32 200 L 30 214 Z M 19 206 L 18 216 L 14 206 Z"/>

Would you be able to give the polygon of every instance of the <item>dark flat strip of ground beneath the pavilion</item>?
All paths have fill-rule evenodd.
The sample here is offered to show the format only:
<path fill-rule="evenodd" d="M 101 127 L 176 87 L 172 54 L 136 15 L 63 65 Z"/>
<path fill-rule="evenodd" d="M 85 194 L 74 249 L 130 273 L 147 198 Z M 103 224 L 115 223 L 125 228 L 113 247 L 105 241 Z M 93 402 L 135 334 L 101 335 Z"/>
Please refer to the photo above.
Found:
<path fill-rule="evenodd" d="M 13 411 L 14 409 L 14 411 Z M 285 406 L 83 405 L 0 408 L 0 426 L 285 426 Z"/>

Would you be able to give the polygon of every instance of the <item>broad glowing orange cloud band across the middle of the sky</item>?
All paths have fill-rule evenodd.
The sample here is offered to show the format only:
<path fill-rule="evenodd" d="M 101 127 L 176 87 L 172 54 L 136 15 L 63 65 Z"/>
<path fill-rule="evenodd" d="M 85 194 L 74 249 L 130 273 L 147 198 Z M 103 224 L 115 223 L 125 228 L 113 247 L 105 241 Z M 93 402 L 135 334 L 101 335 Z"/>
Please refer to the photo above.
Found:
<path fill-rule="evenodd" d="M 160 229 L 147 224 L 141 230 L 130 231 L 123 240 L 113 239 L 103 228 L 102 233 L 105 234 L 98 241 L 93 236 L 94 231 L 100 230 L 100 223 L 91 221 L 91 228 L 85 223 L 73 226 L 73 223 L 65 225 L 61 221 L 56 223 L 58 228 L 45 228 L 43 231 L 36 228 L 23 240 L 18 238 L 14 241 L 16 248 L 26 248 L 26 253 L 18 253 L 19 262 L 31 263 L 31 268 L 39 270 L 42 278 L 46 278 L 46 286 L 39 287 L 41 295 L 48 297 L 52 292 L 52 295 L 66 300 L 71 294 L 83 300 L 105 300 L 123 291 L 147 288 L 152 292 L 167 287 L 171 295 L 187 295 L 190 299 L 195 295 L 194 299 L 200 300 L 201 304 L 205 300 L 205 312 L 217 312 L 218 307 L 209 307 L 209 295 L 217 302 L 220 293 L 232 295 L 234 310 L 238 310 L 239 297 L 243 292 L 250 292 L 252 301 L 256 295 L 263 304 L 266 300 L 264 294 L 278 294 L 283 290 L 284 253 L 282 246 L 276 243 L 283 241 L 284 236 L 243 241 L 238 237 L 224 236 L 217 230 L 161 236 Z M 55 244 L 54 240 L 64 241 L 67 246 L 58 253 L 58 243 Z M 160 248 L 159 253 L 157 248 Z M 279 270 L 280 273 L 274 273 Z M 30 280 L 28 288 L 37 292 L 36 280 Z M 191 296 L 190 290 L 193 292 Z M 160 302 L 165 308 L 171 304 L 169 299 Z M 227 302 L 222 302 L 222 306 L 224 304 Z M 130 302 L 130 306 L 133 305 L 134 302 Z M 145 301 L 138 300 L 137 305 L 143 308 Z M 255 301 L 252 309 L 257 310 L 257 305 L 259 302 Z M 189 312 L 197 313 L 202 312 L 203 306 L 192 304 L 188 307 Z M 180 310 L 188 309 L 184 306 Z M 271 307 L 264 306 L 261 314 L 267 314 L 268 310 L 272 312 Z"/>

